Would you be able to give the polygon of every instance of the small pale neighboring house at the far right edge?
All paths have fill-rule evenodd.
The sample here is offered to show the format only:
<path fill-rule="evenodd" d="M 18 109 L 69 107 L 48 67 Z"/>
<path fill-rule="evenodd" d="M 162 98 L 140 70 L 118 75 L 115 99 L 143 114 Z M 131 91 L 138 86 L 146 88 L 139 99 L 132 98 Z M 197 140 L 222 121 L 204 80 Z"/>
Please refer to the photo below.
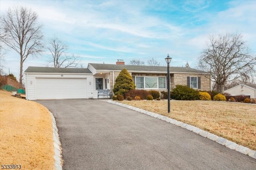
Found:
<path fill-rule="evenodd" d="M 250 98 L 256 98 L 256 84 L 240 84 L 236 87 L 232 87 L 225 90 L 224 93 L 229 93 L 231 96 L 250 96 Z"/>

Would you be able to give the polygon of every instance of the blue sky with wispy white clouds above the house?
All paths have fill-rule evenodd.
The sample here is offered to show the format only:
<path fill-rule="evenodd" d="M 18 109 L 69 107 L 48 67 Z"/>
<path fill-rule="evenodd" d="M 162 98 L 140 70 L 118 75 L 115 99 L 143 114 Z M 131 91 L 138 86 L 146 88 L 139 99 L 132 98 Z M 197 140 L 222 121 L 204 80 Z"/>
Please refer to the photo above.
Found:
<path fill-rule="evenodd" d="M 38 14 L 44 41 L 54 36 L 65 42 L 68 53 L 88 63 L 115 64 L 124 59 L 156 59 L 171 66 L 196 67 L 210 35 L 239 33 L 256 54 L 256 0 L 1 0 L 0 14 L 25 6 Z M 30 57 L 28 66 L 44 67 L 49 52 Z M 7 51 L 4 71 L 18 78 L 19 56 Z M 50 66 L 50 65 L 49 65 Z"/>

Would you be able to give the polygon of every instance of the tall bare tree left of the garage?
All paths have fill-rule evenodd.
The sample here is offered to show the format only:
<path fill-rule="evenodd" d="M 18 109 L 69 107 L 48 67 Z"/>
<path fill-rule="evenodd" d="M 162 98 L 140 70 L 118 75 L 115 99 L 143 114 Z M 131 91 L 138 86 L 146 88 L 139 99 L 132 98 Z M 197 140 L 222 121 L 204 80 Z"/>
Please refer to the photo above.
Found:
<path fill-rule="evenodd" d="M 36 12 L 25 7 L 9 8 L 1 17 L 0 41 L 20 55 L 20 85 L 24 61 L 42 52 L 42 25 L 37 24 L 37 18 Z"/>

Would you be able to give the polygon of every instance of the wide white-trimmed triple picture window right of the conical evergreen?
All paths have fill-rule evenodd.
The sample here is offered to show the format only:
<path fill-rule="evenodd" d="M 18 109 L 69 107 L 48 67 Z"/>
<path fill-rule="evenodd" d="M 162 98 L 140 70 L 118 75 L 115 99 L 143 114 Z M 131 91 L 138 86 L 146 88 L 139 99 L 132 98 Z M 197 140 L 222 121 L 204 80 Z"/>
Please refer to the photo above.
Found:
<path fill-rule="evenodd" d="M 136 89 L 166 89 L 166 77 L 136 76 Z"/>

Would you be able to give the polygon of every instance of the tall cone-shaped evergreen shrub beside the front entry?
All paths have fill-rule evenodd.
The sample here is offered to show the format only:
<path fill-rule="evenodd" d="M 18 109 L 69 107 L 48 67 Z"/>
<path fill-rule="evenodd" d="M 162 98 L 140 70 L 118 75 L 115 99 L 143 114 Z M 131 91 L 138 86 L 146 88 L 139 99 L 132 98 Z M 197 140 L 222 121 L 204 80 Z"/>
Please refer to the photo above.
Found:
<path fill-rule="evenodd" d="M 120 71 L 119 75 L 116 77 L 116 83 L 114 85 L 113 92 L 115 95 L 124 96 L 131 89 L 135 89 L 135 84 L 132 80 L 132 76 L 128 73 L 127 69 L 124 68 Z"/>

